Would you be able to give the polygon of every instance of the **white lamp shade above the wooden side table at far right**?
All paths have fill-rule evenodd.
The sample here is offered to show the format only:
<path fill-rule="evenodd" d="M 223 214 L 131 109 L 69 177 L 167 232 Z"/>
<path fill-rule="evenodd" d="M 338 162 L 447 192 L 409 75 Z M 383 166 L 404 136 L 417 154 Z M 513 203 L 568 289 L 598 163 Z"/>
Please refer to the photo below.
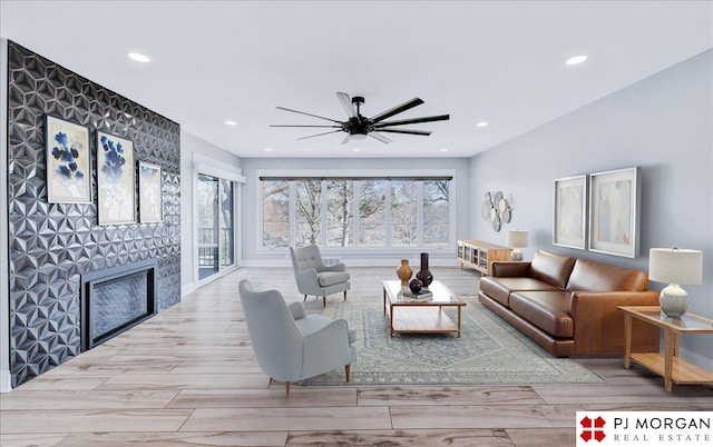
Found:
<path fill-rule="evenodd" d="M 703 254 L 700 250 L 652 248 L 648 251 L 648 279 L 671 284 L 701 284 Z"/>

